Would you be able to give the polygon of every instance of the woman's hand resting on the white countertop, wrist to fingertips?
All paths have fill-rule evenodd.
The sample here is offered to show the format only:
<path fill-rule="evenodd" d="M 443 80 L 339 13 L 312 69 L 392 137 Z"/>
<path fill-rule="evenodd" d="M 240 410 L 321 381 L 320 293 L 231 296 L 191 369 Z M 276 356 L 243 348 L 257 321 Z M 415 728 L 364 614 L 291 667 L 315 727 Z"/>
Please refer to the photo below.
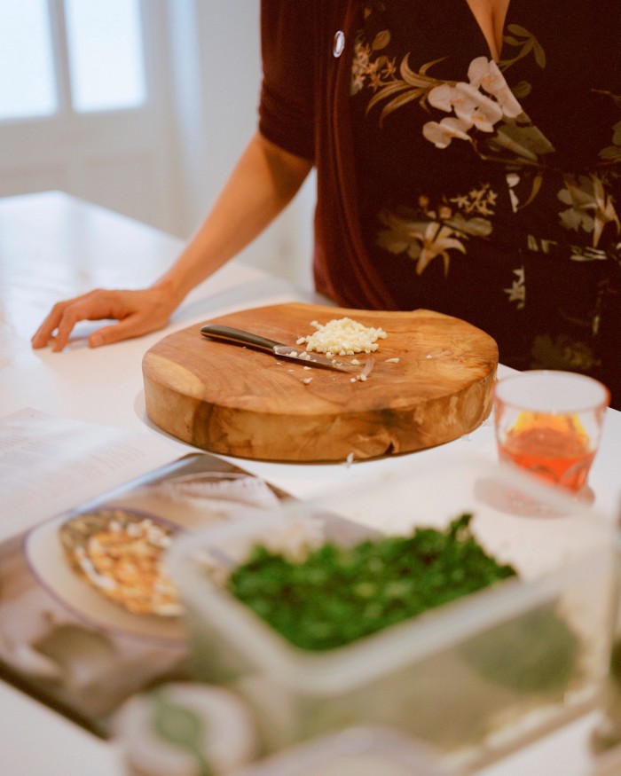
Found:
<path fill-rule="evenodd" d="M 161 329 L 169 322 L 176 307 L 177 301 L 165 287 L 153 286 L 139 291 L 90 291 L 89 294 L 55 304 L 32 338 L 32 346 L 44 348 L 52 342 L 51 349 L 58 352 L 65 348 L 79 321 L 106 318 L 116 319 L 118 323 L 103 326 L 90 334 L 91 348 L 129 340 Z"/>

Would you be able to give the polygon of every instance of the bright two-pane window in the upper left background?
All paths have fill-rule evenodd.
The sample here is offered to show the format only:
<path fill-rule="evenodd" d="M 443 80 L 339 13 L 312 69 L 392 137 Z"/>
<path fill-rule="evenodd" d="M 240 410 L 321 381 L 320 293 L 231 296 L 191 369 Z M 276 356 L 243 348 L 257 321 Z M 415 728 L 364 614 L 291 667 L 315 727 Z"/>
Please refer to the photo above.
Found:
<path fill-rule="evenodd" d="M 0 120 L 145 102 L 140 0 L 2 0 Z"/>

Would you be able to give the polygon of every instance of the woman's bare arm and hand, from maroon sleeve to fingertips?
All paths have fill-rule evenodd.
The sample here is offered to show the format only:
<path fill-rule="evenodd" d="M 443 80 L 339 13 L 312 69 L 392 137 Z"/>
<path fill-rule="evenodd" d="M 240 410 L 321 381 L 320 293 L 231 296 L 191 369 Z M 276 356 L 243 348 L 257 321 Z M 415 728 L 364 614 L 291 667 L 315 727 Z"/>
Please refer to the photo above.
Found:
<path fill-rule="evenodd" d="M 293 199 L 312 162 L 289 153 L 259 132 L 248 143 L 214 208 L 172 267 L 138 291 L 96 290 L 58 302 L 32 338 L 62 350 L 76 323 L 114 318 L 90 335 L 90 347 L 160 329 L 194 286 L 257 237 Z M 56 332 L 56 336 L 53 334 Z"/>

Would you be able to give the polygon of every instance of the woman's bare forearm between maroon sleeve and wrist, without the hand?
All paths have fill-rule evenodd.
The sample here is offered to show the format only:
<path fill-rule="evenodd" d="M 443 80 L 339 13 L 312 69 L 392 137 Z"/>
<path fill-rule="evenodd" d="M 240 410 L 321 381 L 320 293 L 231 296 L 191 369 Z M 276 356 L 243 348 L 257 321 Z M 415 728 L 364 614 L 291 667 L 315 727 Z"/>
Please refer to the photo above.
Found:
<path fill-rule="evenodd" d="M 311 166 L 310 161 L 255 134 L 214 208 L 177 262 L 154 286 L 166 287 L 180 303 L 194 286 L 240 253 L 287 207 Z"/>

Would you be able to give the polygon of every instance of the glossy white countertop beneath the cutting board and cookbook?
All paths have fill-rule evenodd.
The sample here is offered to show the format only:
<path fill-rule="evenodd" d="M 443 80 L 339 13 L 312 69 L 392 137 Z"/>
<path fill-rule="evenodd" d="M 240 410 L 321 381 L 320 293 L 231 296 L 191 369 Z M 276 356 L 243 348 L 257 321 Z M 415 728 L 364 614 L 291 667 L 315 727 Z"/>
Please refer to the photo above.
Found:
<path fill-rule="evenodd" d="M 180 240 L 152 227 L 59 192 L 0 200 L 0 415 L 31 407 L 67 419 L 140 429 L 153 443 L 157 440 L 162 464 L 192 451 L 145 418 L 141 372 L 145 350 L 164 333 L 232 310 L 310 301 L 285 281 L 233 261 L 187 298 L 163 333 L 90 350 L 85 336 L 93 325 L 84 324 L 62 354 L 30 348 L 30 336 L 54 302 L 96 286 L 145 285 L 168 267 L 181 246 Z M 353 466 L 230 460 L 297 497 L 309 498 L 460 449 L 495 457 L 489 421 L 468 437 L 434 450 Z M 608 412 L 590 484 L 595 506 L 617 513 L 621 412 Z M 121 772 L 113 745 L 4 683 L 0 709 L 2 718 L 11 720 L 0 733 L 0 762 L 10 776 Z M 481 773 L 586 776 L 590 764 L 585 742 L 592 727 L 593 718 L 584 717 Z"/>

